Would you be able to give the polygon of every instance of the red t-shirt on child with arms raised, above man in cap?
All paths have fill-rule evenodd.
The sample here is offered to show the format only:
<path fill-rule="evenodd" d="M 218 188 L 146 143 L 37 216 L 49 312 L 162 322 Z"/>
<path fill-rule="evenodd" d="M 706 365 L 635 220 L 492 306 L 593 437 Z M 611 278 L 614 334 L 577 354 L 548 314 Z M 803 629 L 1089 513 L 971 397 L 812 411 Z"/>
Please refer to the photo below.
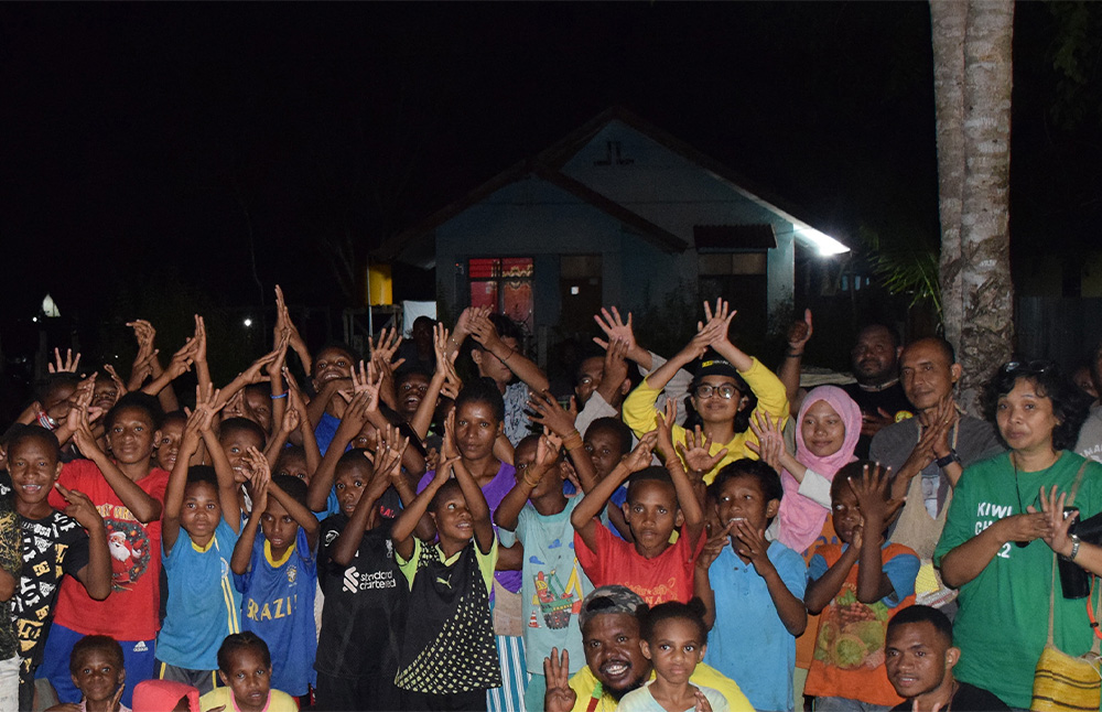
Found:
<path fill-rule="evenodd" d="M 667 601 L 688 603 L 692 598 L 693 568 L 707 540 L 703 531 L 690 549 L 682 528 L 677 542 L 653 559 L 644 559 L 635 544 L 624 541 L 599 521 L 596 524 L 599 555 L 574 532 L 574 553 L 594 587 L 618 583 L 638 593 L 651 606 Z"/>

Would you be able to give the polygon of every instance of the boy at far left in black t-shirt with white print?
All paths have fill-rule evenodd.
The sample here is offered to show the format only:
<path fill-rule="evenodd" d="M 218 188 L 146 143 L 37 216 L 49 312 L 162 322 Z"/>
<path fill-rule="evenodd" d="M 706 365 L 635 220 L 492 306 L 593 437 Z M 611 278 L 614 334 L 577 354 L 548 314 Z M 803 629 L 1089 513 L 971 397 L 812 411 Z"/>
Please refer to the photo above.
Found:
<path fill-rule="evenodd" d="M 19 585 L 12 598 L 20 648 L 20 710 L 29 710 L 33 704 L 34 671 L 42 661 L 45 644 L 42 632 L 53 618 L 62 576 L 75 578 L 97 601 L 111 592 L 107 532 L 91 501 L 79 492 L 61 488 L 69 501 L 65 513 L 61 513 L 46 499 L 61 471 L 61 447 L 52 432 L 39 425 L 23 425 L 11 433 L 8 472 L 22 531 L 22 569 L 17 569 Z M 7 551 L 0 548 L 0 552 Z M 4 568 L 10 571 L 8 565 Z"/>

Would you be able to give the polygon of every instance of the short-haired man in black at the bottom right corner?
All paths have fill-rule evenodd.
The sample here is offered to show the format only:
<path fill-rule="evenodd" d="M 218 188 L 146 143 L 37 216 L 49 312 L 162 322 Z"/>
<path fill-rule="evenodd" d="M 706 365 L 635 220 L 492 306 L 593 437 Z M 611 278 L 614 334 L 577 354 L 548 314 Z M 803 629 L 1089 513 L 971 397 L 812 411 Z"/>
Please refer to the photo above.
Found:
<path fill-rule="evenodd" d="M 893 712 L 1008 710 L 997 697 L 953 677 L 961 649 L 953 646 L 953 624 L 930 606 L 908 606 L 888 622 L 884 643 L 888 681 L 906 702 Z"/>

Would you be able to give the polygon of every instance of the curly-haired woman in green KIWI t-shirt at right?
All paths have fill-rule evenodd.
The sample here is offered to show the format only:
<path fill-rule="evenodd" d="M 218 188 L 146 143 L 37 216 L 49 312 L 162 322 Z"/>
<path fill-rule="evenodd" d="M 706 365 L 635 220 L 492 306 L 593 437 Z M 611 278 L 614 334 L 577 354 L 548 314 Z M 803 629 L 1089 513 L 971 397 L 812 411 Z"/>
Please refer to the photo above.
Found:
<path fill-rule="evenodd" d="M 1074 516 L 1063 516 L 1072 504 L 1083 519 L 1102 511 L 1102 465 L 1071 450 L 1087 409 L 1055 363 L 1006 364 L 986 400 L 1009 451 L 961 475 L 933 562 L 946 584 L 960 589 L 953 675 L 1028 708 L 1048 636 L 1055 558 L 1102 573 L 1102 548 L 1069 536 Z M 1088 602 L 1065 598 L 1055 585 L 1056 646 L 1081 655 L 1094 635 Z"/>

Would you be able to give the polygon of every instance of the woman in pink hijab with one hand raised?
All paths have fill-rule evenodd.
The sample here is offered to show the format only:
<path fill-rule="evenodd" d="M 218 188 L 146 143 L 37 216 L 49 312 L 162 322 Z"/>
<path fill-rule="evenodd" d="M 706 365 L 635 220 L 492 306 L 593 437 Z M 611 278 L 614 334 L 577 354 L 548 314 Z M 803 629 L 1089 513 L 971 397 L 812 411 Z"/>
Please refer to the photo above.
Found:
<path fill-rule="evenodd" d="M 785 496 L 777 540 L 802 552 L 819 538 L 830 514 L 830 483 L 853 455 L 861 436 L 861 408 L 836 386 L 820 386 L 803 399 L 796 421 L 796 456 L 788 453 L 779 423 L 753 423 L 759 455 L 780 471 Z"/>

